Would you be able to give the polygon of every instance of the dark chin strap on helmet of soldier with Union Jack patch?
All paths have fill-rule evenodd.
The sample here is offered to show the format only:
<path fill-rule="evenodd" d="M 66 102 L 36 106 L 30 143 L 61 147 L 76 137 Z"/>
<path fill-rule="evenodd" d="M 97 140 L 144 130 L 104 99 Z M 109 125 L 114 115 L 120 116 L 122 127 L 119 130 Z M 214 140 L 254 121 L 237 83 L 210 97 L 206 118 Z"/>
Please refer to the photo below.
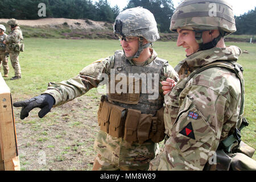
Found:
<path fill-rule="evenodd" d="M 204 50 L 211 49 L 211 48 L 215 47 L 217 45 L 217 43 L 220 41 L 220 39 L 222 38 L 222 34 L 220 32 L 220 35 L 218 35 L 217 38 L 214 38 L 211 42 L 204 44 L 203 38 L 202 38 L 204 31 L 207 31 L 207 30 L 195 31 L 196 42 L 199 44 L 198 51 L 204 51 Z"/>

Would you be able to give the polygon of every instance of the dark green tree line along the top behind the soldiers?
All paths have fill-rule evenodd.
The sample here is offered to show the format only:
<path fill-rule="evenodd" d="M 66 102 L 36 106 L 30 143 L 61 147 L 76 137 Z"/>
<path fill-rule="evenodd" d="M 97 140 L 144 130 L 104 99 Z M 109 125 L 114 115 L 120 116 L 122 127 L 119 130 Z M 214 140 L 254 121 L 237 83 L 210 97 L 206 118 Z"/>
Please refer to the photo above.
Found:
<path fill-rule="evenodd" d="M 121 0 L 120 0 L 121 1 Z M 46 5 L 46 17 L 38 16 L 39 3 Z M 170 32 L 170 19 L 174 13 L 172 0 L 129 0 L 123 9 L 142 6 L 154 14 L 160 32 Z M 117 15 L 123 11 L 116 5 L 110 7 L 108 0 L 1 0 L 0 18 L 39 19 L 70 18 L 91 19 L 113 23 Z M 237 32 L 235 34 L 256 34 L 255 9 L 236 17 Z"/>

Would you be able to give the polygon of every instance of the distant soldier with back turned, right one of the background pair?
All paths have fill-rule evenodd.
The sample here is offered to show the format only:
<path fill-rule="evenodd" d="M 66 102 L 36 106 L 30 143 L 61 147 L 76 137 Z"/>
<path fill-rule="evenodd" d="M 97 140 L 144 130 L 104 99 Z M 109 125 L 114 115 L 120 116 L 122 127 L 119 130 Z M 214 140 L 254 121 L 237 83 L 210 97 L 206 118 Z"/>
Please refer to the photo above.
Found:
<path fill-rule="evenodd" d="M 23 36 L 22 31 L 19 28 L 19 23 L 16 19 L 10 19 L 7 24 L 10 25 L 11 32 L 3 43 L 6 44 L 6 50 L 9 52 L 11 65 L 15 71 L 15 76 L 12 77 L 11 80 L 17 80 L 21 78 L 19 52 L 23 51 Z"/>

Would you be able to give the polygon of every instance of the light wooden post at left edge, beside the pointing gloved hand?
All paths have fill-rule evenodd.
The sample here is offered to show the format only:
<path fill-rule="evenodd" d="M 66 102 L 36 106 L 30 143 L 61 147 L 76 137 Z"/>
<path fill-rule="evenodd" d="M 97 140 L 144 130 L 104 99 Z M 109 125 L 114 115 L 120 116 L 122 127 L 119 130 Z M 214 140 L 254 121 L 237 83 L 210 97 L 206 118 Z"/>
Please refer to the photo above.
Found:
<path fill-rule="evenodd" d="M 0 171 L 19 171 L 11 92 L 0 73 Z"/>

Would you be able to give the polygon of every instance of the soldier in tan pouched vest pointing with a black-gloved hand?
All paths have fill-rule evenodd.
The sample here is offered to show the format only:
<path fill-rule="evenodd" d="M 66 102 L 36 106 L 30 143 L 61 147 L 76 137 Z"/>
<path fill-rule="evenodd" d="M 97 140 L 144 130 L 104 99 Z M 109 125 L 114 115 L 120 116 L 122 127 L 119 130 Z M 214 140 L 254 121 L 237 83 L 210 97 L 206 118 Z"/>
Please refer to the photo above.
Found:
<path fill-rule="evenodd" d="M 93 170 L 148 170 L 157 143 L 165 135 L 163 91 L 159 84 L 167 77 L 177 81 L 178 76 L 150 47 L 159 39 L 150 11 L 142 7 L 123 11 L 115 19 L 114 34 L 119 36 L 122 51 L 94 61 L 74 78 L 50 82 L 42 95 L 15 102 L 14 106 L 22 107 L 21 119 L 33 108 L 40 107 L 39 117 L 42 118 L 52 106 L 64 104 L 96 88 L 103 75 L 106 80 L 110 77 L 107 81 L 110 82 L 109 92 L 101 97 L 98 110 L 100 131 L 94 143 L 97 155 Z M 115 89 L 120 84 L 118 76 L 123 76 L 122 81 L 126 83 L 121 90 Z M 143 80 L 144 76 L 147 80 Z M 145 90 L 149 85 L 156 88 L 155 98 Z"/>

